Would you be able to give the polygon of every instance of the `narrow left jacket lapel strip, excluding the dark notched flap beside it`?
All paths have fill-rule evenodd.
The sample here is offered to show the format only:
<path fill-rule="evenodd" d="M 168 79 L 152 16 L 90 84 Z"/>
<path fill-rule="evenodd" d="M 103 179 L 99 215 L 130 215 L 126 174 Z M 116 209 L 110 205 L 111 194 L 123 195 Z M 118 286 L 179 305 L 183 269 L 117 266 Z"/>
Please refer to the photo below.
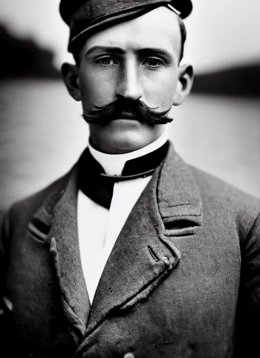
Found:
<path fill-rule="evenodd" d="M 77 171 L 53 210 L 51 250 L 64 313 L 83 336 L 90 302 L 82 272 L 77 229 Z"/>

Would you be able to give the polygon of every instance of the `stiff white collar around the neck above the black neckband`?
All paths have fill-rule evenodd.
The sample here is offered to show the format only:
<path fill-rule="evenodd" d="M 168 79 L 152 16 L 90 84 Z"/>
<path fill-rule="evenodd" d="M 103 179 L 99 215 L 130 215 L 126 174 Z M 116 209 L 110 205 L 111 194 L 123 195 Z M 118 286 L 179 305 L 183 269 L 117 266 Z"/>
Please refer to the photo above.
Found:
<path fill-rule="evenodd" d="M 90 143 L 88 143 L 88 149 L 94 159 L 103 167 L 106 174 L 121 175 L 127 160 L 145 156 L 164 145 L 167 140 L 168 130 L 166 128 L 164 133 L 158 139 L 134 152 L 125 154 L 106 154 L 95 150 Z"/>

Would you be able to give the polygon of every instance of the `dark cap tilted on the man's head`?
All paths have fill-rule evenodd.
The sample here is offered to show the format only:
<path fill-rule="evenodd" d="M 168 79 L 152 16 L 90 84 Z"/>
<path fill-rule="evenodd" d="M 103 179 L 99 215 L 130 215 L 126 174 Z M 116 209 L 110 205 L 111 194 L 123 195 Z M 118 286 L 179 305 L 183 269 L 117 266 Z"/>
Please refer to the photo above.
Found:
<path fill-rule="evenodd" d="M 59 11 L 70 26 L 68 50 L 74 52 L 86 37 L 116 23 L 169 5 L 182 19 L 192 10 L 191 0 L 61 0 Z"/>

